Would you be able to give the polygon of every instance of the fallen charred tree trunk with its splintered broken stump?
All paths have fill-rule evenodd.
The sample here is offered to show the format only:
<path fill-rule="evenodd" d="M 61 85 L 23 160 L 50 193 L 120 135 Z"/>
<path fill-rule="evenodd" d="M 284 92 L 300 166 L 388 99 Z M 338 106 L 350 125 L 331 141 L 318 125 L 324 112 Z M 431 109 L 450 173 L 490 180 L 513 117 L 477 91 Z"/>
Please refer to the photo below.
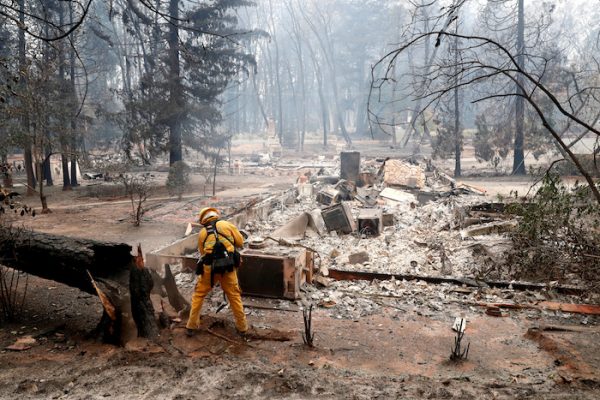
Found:
<path fill-rule="evenodd" d="M 152 277 L 139 246 L 132 256 L 125 243 L 2 227 L 0 264 L 98 295 L 104 315 L 97 333 L 107 343 L 123 344 L 136 328 L 137 336 L 158 336 Z"/>

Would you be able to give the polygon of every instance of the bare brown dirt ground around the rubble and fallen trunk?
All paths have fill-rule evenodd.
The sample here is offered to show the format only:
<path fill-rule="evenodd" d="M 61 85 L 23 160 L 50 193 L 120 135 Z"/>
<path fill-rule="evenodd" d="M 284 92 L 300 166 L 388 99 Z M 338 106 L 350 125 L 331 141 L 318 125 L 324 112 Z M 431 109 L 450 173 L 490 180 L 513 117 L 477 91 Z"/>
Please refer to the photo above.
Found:
<path fill-rule="evenodd" d="M 203 178 L 194 176 L 192 190 L 181 201 L 164 189 L 154 191 L 140 227 L 128 219 L 126 199 L 94 197 L 89 182 L 72 192 L 52 187 L 53 212 L 22 223 L 43 232 L 141 243 L 147 252 L 182 237 L 186 222 L 202 206 L 243 204 L 257 194 L 288 188 L 296 177 L 293 170 L 222 176 L 211 198 Z M 524 193 L 531 183 L 530 178 L 465 181 L 488 189 L 490 198 L 515 188 Z M 89 338 L 102 312 L 95 296 L 29 277 L 21 315 L 0 326 L 0 398 L 600 397 L 597 316 L 510 310 L 493 317 L 467 303 L 436 312 L 388 303 L 359 319 L 338 319 L 319 307 L 313 312 L 315 347 L 308 348 L 297 304 L 249 297 L 244 302 L 260 338 L 241 340 L 229 310 L 215 314 L 209 305 L 201 331 L 192 338 L 184 335 L 180 322 L 164 329 L 157 342 L 137 339 L 119 348 Z M 470 348 L 466 361 L 451 363 L 455 333 L 450 327 L 456 316 L 468 320 L 464 340 Z M 543 329 L 549 325 L 569 329 Z M 26 336 L 35 339 L 30 348 L 7 349 Z"/>

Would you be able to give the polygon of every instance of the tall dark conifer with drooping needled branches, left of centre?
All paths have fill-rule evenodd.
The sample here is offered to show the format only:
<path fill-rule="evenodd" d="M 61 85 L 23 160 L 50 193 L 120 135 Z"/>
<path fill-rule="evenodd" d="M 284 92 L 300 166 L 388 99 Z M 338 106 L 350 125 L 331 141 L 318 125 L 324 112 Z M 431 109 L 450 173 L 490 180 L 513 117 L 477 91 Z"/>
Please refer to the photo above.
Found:
<path fill-rule="evenodd" d="M 139 86 L 124 96 L 127 150 L 137 149 L 143 159 L 168 153 L 171 165 L 183 160 L 184 146 L 204 152 L 222 122 L 221 95 L 255 63 L 243 46 L 249 34 L 238 28 L 235 14 L 251 4 L 170 0 L 166 25 L 140 17 L 141 11 L 128 17 L 132 30 L 147 29 L 164 40 L 145 49 L 148 61 Z M 135 28 L 136 23 L 146 28 Z"/>

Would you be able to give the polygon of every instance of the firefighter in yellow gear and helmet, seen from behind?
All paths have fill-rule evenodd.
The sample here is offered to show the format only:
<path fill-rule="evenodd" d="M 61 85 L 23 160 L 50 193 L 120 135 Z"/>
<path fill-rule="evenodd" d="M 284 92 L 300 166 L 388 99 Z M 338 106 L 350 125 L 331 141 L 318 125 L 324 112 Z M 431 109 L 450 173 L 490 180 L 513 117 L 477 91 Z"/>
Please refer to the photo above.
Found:
<path fill-rule="evenodd" d="M 235 318 L 235 326 L 241 335 L 248 331 L 248 323 L 242 304 L 242 291 L 237 279 L 240 256 L 237 248 L 244 244 L 244 238 L 235 225 L 219 220 L 216 208 L 206 207 L 200 210 L 199 220 L 203 228 L 198 235 L 198 261 L 196 274 L 198 280 L 192 295 L 192 309 L 186 325 L 186 334 L 192 336 L 200 326 L 202 303 L 215 283 L 219 282 L 229 300 Z"/>

